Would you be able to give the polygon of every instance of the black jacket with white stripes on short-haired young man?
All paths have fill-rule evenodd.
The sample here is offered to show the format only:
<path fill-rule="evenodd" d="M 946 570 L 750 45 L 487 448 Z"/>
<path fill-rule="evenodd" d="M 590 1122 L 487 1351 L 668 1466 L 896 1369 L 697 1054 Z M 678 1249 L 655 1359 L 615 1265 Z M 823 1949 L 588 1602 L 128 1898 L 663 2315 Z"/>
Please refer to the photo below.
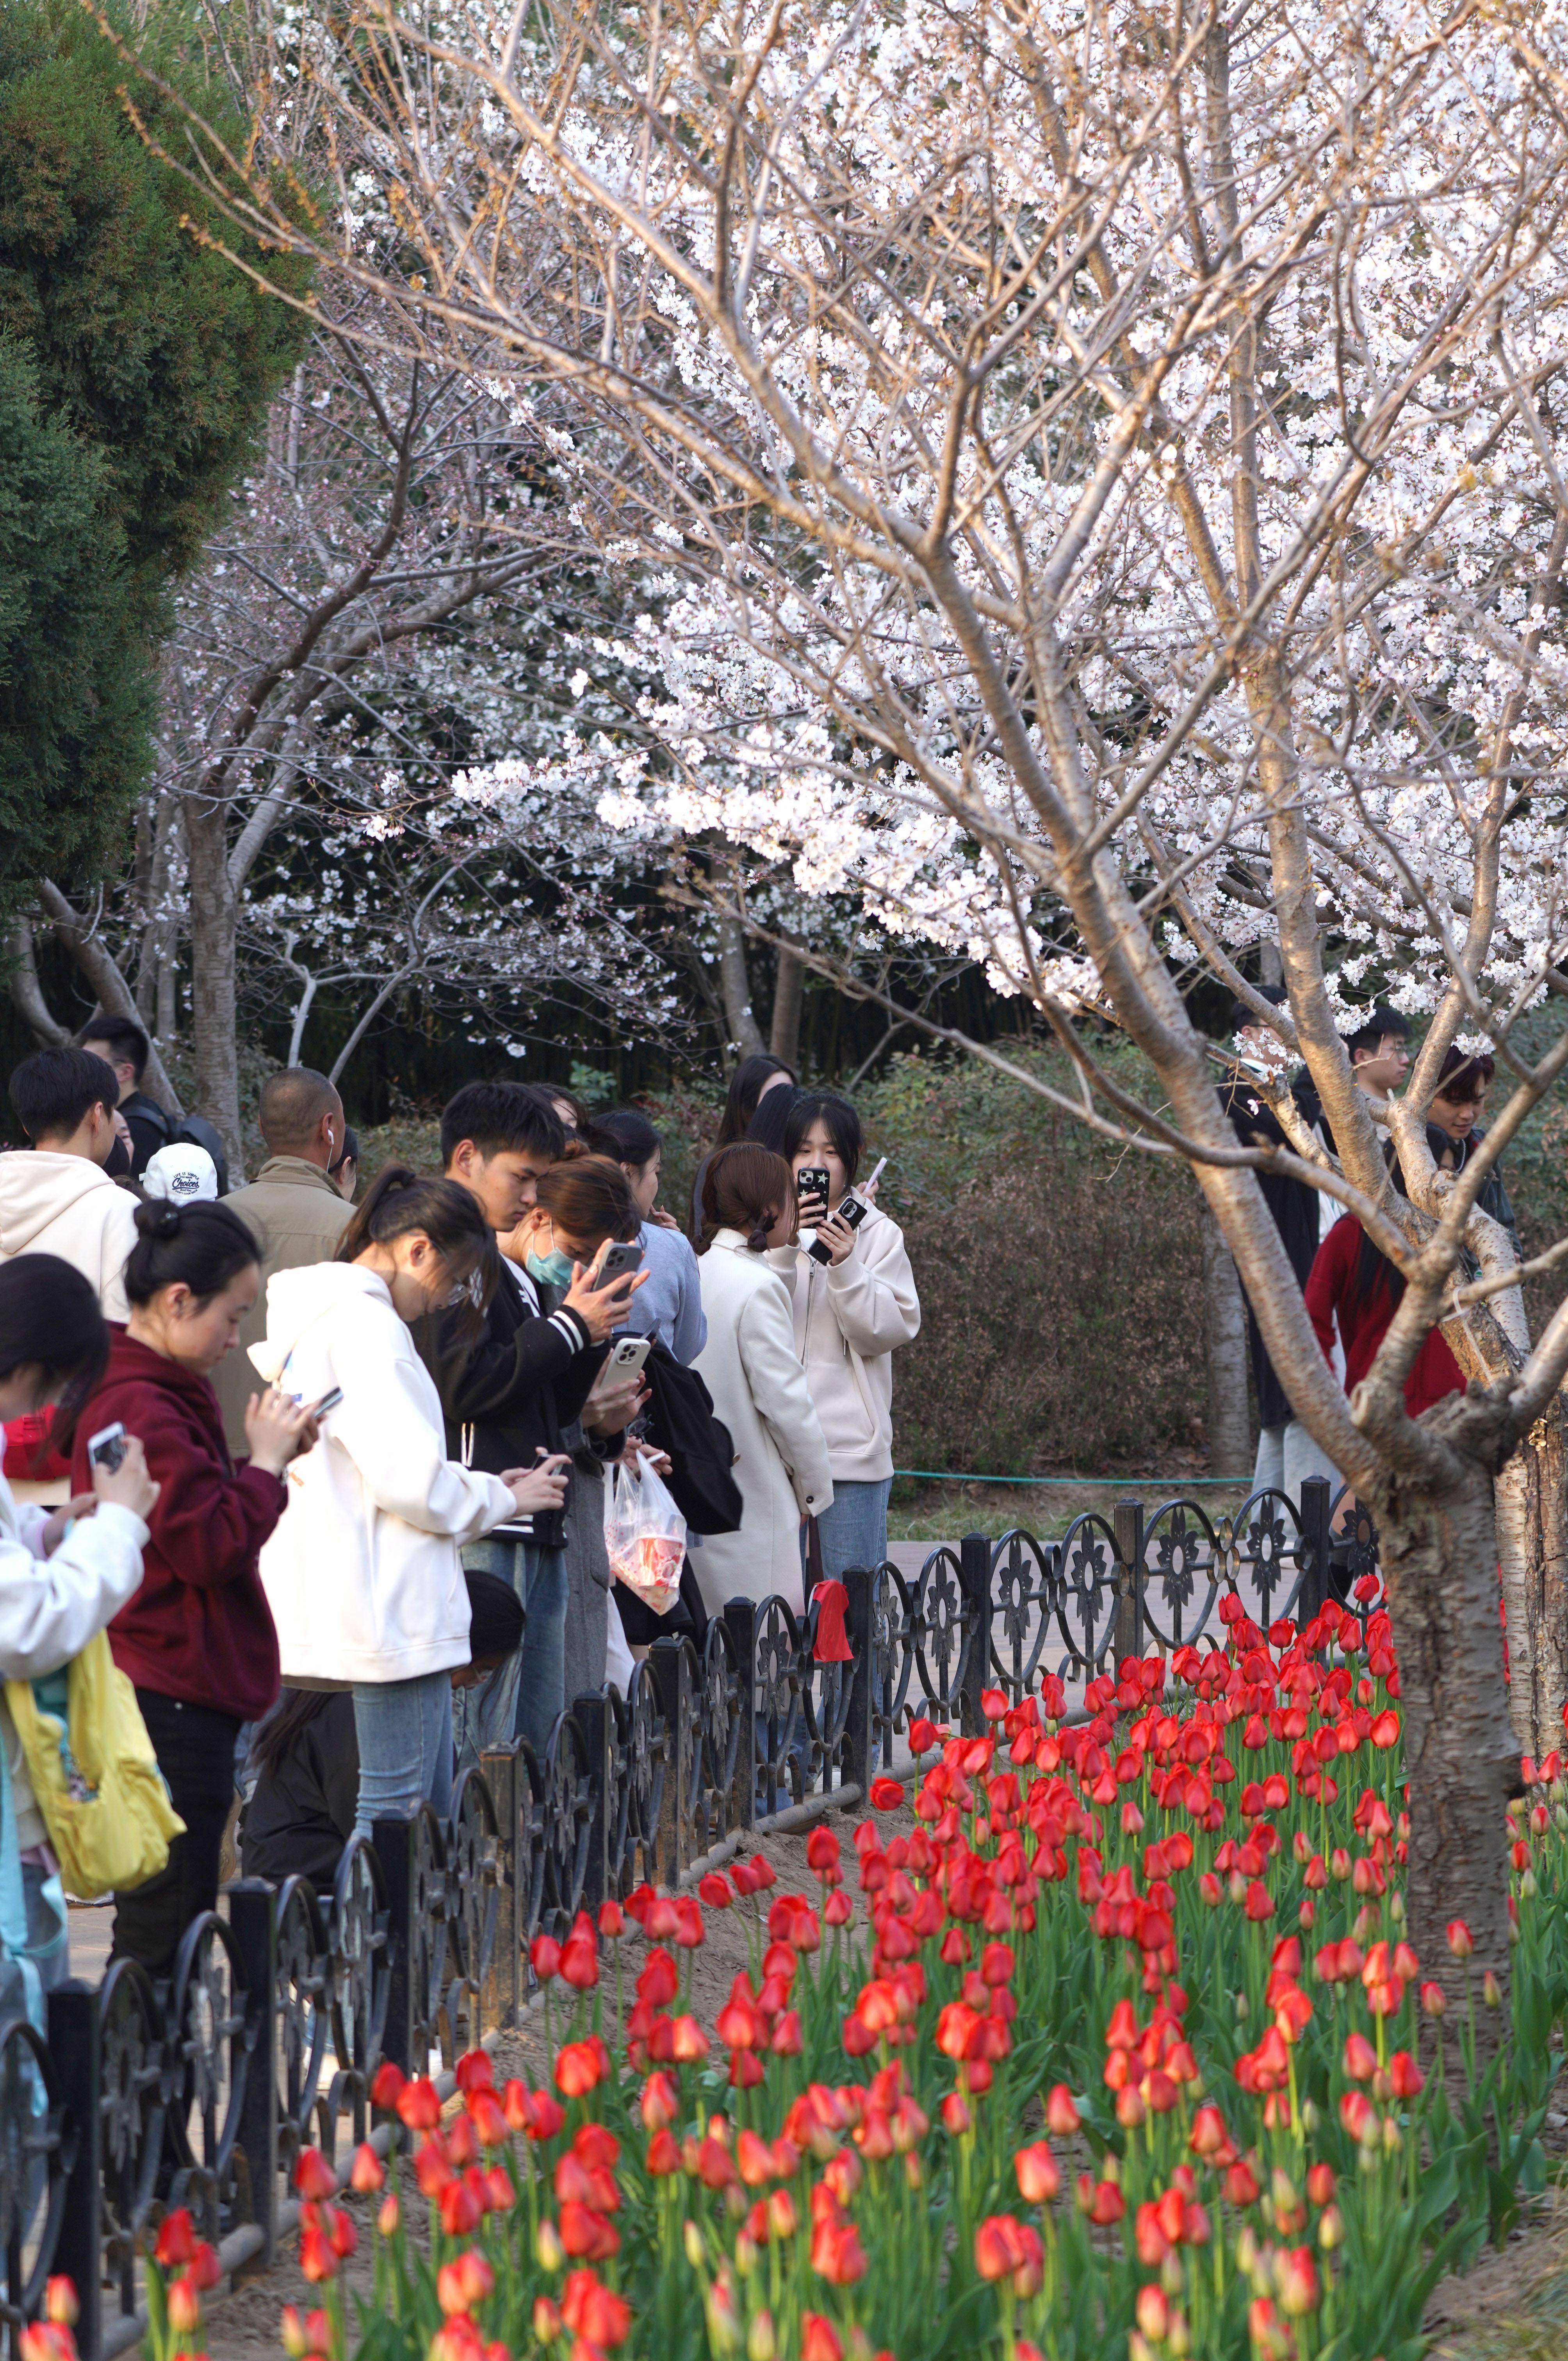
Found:
<path fill-rule="evenodd" d="M 449 1457 L 501 1476 L 503 1469 L 531 1469 L 541 1450 L 569 1450 L 564 1428 L 581 1417 L 609 1346 L 590 1343 L 564 1303 L 550 1310 L 548 1289 L 543 1310 L 534 1310 L 505 1261 L 484 1310 L 482 1339 L 463 1353 L 458 1334 L 456 1315 L 446 1322 L 420 1320 L 416 1329 L 442 1393 Z M 541 1549 L 562 1549 L 567 1509 L 517 1518 L 517 1530 L 531 1532 Z"/>

